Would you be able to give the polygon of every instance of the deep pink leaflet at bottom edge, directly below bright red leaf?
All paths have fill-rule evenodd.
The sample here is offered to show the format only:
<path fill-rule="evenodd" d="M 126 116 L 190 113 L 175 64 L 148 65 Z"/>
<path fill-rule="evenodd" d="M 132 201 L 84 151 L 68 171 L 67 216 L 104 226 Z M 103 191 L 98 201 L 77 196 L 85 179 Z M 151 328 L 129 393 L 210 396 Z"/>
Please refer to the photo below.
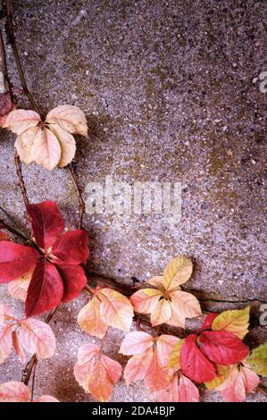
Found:
<path fill-rule="evenodd" d="M 195 383 L 191 382 L 183 374 L 175 374 L 166 390 L 157 394 L 159 402 L 198 402 L 199 392 Z"/>

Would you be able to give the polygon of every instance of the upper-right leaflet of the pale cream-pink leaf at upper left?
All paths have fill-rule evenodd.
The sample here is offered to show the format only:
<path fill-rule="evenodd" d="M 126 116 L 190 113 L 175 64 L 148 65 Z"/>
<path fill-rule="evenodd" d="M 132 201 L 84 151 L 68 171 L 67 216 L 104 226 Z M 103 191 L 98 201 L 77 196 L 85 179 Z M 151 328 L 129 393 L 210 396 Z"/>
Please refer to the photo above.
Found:
<path fill-rule="evenodd" d="M 57 124 L 63 130 L 88 137 L 88 125 L 85 114 L 74 105 L 61 105 L 47 113 L 46 123 Z"/>

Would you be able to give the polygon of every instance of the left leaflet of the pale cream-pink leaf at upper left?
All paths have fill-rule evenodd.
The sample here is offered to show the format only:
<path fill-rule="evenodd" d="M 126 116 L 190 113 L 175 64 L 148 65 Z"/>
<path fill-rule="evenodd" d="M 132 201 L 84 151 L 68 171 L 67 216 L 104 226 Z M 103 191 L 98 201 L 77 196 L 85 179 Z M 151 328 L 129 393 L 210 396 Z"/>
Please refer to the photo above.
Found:
<path fill-rule="evenodd" d="M 40 121 L 40 116 L 35 111 L 16 109 L 7 115 L 3 127 L 16 134 L 21 134 L 29 127 L 38 125 Z"/>

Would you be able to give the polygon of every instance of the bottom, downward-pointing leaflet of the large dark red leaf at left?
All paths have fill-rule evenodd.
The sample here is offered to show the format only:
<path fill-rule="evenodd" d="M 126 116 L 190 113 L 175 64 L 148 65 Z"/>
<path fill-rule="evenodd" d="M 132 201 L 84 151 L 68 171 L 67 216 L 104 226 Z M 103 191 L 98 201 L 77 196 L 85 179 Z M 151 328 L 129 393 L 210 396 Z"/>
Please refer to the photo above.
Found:
<path fill-rule="evenodd" d="M 38 262 L 26 298 L 26 316 L 40 315 L 57 307 L 63 298 L 63 280 L 54 265 Z"/>

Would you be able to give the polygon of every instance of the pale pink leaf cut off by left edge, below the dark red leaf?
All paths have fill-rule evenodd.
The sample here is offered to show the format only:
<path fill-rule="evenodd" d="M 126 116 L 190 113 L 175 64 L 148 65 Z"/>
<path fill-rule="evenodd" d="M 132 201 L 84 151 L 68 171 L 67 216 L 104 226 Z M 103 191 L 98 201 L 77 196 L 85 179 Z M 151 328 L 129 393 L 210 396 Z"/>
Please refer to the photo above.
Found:
<path fill-rule="evenodd" d="M 21 363 L 25 363 L 24 351 L 38 358 L 54 355 L 54 332 L 47 323 L 35 318 L 16 319 L 10 308 L 0 305 L 0 363 L 11 355 L 14 348 Z"/>

